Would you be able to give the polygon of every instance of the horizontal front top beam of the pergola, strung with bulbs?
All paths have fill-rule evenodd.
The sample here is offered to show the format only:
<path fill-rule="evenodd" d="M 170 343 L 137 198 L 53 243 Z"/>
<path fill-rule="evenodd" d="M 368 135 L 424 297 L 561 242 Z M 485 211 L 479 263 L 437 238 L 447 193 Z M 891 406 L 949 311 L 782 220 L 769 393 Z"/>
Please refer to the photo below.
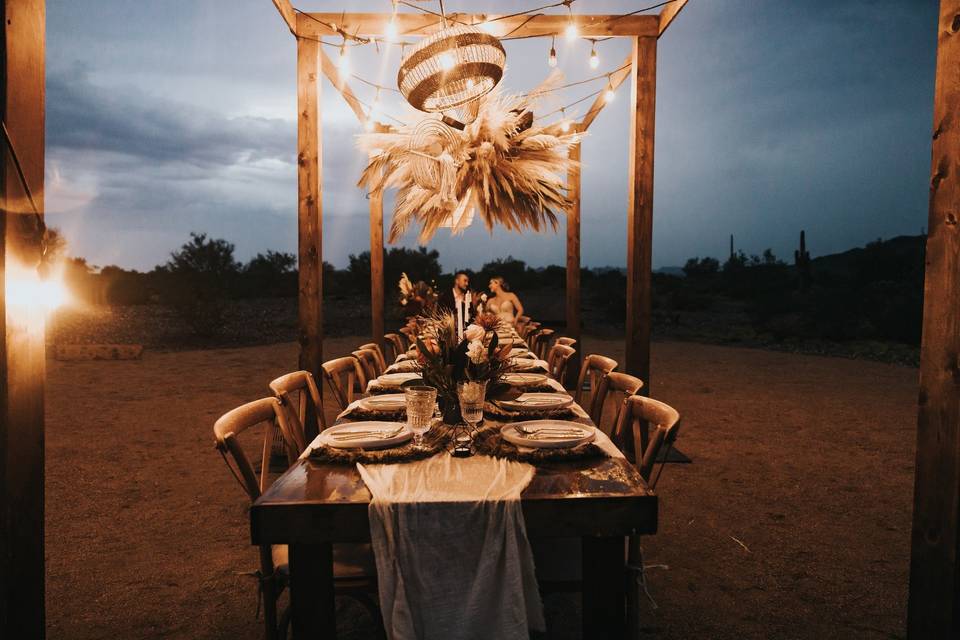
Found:
<path fill-rule="evenodd" d="M 311 13 L 310 24 L 300 23 L 297 30 L 300 35 L 336 35 L 331 28 L 336 25 L 347 33 L 361 37 L 382 36 L 386 30 L 390 13 Z M 497 19 L 494 14 L 449 13 L 447 20 L 453 23 L 482 24 L 492 19 L 483 28 L 497 37 L 510 34 L 515 36 L 551 36 L 559 35 L 566 29 L 569 16 L 565 13 L 512 16 Z M 657 15 L 576 15 L 573 16 L 581 37 L 603 38 L 608 36 L 658 36 L 660 35 L 660 17 Z M 440 18 L 424 13 L 398 13 L 397 31 L 405 36 L 425 36 L 442 28 Z"/>

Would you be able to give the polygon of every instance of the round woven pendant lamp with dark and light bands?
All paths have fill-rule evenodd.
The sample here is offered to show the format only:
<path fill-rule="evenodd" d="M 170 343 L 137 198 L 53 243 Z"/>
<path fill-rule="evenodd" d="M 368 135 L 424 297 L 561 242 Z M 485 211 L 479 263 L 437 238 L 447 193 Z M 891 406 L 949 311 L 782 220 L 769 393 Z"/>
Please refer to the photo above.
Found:
<path fill-rule="evenodd" d="M 495 37 L 456 25 L 414 46 L 400 63 L 397 86 L 415 109 L 443 113 L 447 122 L 462 128 L 476 118 L 476 101 L 497 86 L 506 62 Z"/>

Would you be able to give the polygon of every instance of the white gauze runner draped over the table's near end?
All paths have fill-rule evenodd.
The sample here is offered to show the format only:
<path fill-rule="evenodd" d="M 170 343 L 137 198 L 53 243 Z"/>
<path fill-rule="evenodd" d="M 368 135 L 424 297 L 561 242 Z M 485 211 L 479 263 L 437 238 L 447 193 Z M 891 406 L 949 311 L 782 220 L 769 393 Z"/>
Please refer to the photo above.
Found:
<path fill-rule="evenodd" d="M 527 640 L 543 631 L 520 493 L 525 463 L 446 453 L 358 464 L 391 640 Z"/>

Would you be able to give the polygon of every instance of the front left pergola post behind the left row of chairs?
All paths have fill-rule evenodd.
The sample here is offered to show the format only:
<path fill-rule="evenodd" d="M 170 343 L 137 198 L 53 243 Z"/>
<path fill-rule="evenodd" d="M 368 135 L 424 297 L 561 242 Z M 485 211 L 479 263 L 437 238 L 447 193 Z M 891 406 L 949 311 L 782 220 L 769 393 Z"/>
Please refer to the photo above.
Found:
<path fill-rule="evenodd" d="M 298 20 L 305 18 L 300 15 Z M 320 123 L 320 43 L 297 39 L 297 189 L 300 368 L 323 393 L 323 146 Z M 307 425 L 316 421 L 307 420 Z M 308 427 L 309 428 L 309 427 Z M 315 434 L 306 434 L 308 438 Z"/>

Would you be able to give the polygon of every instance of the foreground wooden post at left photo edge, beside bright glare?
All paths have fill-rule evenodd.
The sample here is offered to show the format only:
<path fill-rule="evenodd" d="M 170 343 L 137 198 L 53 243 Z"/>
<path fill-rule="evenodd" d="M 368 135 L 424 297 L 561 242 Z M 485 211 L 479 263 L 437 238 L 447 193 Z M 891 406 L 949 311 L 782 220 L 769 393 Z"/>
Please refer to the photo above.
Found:
<path fill-rule="evenodd" d="M 43 212 L 44 0 L 0 0 L 0 111 L 38 212 Z M 6 299 L 37 278 L 42 223 L 0 137 L 0 637 L 43 638 L 45 311 Z"/>

